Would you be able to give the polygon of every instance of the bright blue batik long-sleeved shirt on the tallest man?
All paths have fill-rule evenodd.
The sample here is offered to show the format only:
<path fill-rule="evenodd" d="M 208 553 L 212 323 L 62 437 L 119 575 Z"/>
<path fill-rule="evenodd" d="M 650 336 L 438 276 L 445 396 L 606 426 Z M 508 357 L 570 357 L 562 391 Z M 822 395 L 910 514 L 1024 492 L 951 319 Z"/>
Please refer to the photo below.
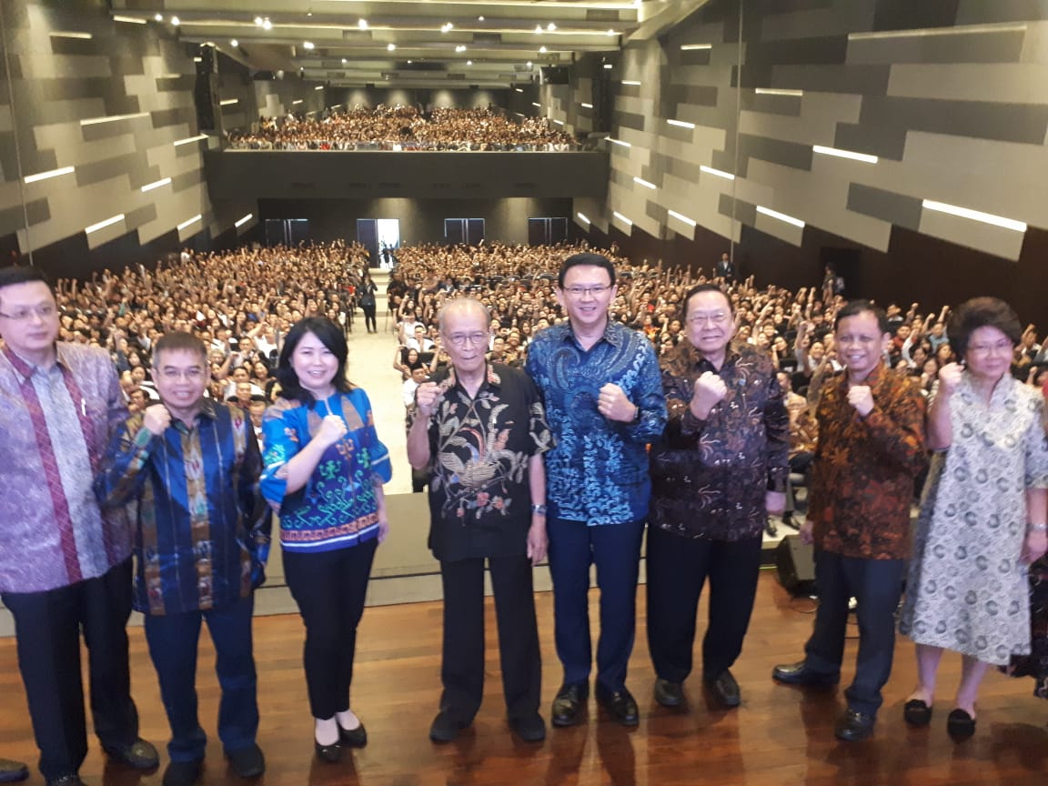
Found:
<path fill-rule="evenodd" d="M 541 330 L 528 347 L 528 375 L 546 405 L 556 446 L 546 454 L 551 518 L 589 525 L 648 516 L 648 443 L 665 425 L 665 398 L 655 350 L 643 333 L 609 320 L 604 336 L 583 349 L 570 323 Z M 632 423 L 597 411 L 613 383 L 639 408 Z"/>

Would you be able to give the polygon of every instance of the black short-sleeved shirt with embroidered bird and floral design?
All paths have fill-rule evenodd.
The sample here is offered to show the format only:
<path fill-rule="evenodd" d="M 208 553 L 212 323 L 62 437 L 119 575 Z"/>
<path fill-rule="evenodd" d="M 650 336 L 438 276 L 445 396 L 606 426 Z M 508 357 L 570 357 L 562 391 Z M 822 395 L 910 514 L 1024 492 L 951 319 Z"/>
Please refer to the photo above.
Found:
<path fill-rule="evenodd" d="M 487 366 L 476 396 L 451 368 L 430 419 L 430 548 L 444 562 L 527 551 L 528 462 L 553 444 L 534 384 L 522 371 Z"/>

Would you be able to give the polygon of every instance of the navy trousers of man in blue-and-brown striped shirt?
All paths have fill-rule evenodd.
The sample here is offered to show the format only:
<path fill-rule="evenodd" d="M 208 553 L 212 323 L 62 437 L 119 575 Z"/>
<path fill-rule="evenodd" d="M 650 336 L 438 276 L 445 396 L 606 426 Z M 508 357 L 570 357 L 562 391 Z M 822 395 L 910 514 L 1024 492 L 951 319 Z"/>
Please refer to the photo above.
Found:
<path fill-rule="evenodd" d="M 253 596 L 204 611 L 146 616 L 146 641 L 171 724 L 171 761 L 203 759 L 208 743 L 197 719 L 196 663 L 201 620 L 208 623 L 215 645 L 215 672 L 222 690 L 218 736 L 226 750 L 254 744 L 259 727 L 252 655 L 254 609 Z"/>

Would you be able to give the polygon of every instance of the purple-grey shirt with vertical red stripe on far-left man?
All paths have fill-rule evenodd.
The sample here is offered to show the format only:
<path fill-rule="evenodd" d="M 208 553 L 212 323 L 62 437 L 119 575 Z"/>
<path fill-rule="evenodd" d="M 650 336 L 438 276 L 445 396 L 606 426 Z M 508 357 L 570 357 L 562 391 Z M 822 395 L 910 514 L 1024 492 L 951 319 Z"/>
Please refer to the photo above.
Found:
<path fill-rule="evenodd" d="M 95 578 L 131 556 L 123 508 L 103 511 L 92 483 L 127 417 L 101 349 L 56 345 L 34 366 L 0 351 L 0 592 L 44 592 Z"/>

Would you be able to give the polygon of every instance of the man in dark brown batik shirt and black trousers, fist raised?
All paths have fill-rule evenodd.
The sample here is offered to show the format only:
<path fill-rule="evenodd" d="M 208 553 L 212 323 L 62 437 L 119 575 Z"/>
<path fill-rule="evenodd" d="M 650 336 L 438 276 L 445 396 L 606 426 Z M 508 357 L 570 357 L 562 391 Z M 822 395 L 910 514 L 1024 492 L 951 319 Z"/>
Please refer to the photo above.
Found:
<path fill-rule="evenodd" d="M 732 304 L 718 287 L 693 288 L 683 316 L 687 343 L 660 364 L 670 419 L 651 452 L 648 646 L 655 699 L 680 704 L 708 576 L 703 681 L 733 707 L 741 699 L 729 670 L 749 626 L 764 525 L 785 505 L 789 418 L 771 358 L 732 344 Z"/>

